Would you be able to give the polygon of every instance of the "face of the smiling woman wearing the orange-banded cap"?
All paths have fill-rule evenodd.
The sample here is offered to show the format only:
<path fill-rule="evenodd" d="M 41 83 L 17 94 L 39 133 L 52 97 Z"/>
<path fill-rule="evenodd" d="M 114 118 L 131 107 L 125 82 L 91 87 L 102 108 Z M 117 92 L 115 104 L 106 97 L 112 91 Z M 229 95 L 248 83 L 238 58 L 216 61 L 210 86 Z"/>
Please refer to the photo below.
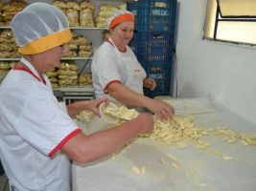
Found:
<path fill-rule="evenodd" d="M 110 30 L 111 38 L 122 46 L 128 45 L 128 42 L 133 36 L 134 22 L 124 21 Z"/>

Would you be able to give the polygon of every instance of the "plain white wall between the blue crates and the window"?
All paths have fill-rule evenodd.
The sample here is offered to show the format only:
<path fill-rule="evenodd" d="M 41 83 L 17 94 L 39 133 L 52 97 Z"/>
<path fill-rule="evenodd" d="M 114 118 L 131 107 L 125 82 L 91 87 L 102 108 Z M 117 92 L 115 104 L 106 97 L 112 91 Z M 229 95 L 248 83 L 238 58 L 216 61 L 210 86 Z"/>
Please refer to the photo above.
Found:
<path fill-rule="evenodd" d="M 179 0 L 179 7 L 177 96 L 211 95 L 256 124 L 256 48 L 202 40 L 206 0 Z"/>

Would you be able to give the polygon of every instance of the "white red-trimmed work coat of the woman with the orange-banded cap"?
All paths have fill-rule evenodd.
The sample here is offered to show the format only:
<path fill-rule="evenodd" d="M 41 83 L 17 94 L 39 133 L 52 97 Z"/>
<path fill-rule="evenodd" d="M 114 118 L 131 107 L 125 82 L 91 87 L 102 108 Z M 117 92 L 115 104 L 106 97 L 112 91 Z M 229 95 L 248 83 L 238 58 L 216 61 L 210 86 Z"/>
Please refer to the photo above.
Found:
<path fill-rule="evenodd" d="M 107 87 L 114 82 L 143 95 L 146 73 L 128 46 L 125 52 L 121 52 L 109 38 L 94 54 L 91 70 L 96 97 L 108 96 Z"/>

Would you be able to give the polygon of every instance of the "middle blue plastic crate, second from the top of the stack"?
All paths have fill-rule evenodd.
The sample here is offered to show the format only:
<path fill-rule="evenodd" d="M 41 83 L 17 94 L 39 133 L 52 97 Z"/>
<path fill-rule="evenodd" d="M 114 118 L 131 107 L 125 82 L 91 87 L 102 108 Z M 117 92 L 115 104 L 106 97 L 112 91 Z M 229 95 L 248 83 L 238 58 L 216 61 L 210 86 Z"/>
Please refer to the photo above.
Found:
<path fill-rule="evenodd" d="M 161 63 L 171 61 L 174 42 L 170 32 L 134 32 L 129 46 L 139 62 Z"/>

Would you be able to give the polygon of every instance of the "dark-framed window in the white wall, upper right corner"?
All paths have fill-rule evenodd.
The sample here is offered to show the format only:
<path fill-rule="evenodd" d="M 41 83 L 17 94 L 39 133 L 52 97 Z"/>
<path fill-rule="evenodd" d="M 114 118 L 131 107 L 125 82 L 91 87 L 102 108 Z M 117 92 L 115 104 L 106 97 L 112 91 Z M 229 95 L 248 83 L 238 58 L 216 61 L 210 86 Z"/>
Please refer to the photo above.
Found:
<path fill-rule="evenodd" d="M 204 39 L 256 45 L 256 0 L 208 0 Z"/>

